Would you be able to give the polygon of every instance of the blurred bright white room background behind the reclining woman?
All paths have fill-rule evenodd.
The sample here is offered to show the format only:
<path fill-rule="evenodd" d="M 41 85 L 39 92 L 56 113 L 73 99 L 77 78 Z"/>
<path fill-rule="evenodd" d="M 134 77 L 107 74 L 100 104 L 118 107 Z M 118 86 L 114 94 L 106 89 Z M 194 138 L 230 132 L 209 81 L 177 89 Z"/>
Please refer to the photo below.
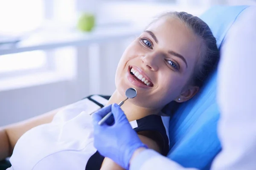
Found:
<path fill-rule="evenodd" d="M 200 16 L 214 5 L 253 4 L 256 0 L 0 0 L 0 126 L 90 94 L 111 95 L 126 46 L 163 11 Z M 83 22 L 92 29 L 82 31 Z"/>

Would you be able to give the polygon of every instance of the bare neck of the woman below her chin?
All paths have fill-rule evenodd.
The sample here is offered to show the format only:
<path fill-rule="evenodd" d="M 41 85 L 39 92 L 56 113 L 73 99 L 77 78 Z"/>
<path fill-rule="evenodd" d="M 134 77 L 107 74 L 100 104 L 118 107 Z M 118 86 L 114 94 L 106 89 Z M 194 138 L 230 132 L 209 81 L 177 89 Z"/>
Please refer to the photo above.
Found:
<path fill-rule="evenodd" d="M 111 105 L 113 103 L 119 103 L 122 100 L 125 100 L 123 96 L 119 94 L 118 91 L 115 91 L 111 98 L 108 100 L 108 105 Z M 143 108 L 137 105 L 134 105 L 129 101 L 130 99 L 127 99 L 124 104 L 121 106 L 122 111 L 124 111 L 127 119 L 129 122 L 137 119 L 141 119 L 145 116 L 151 115 L 151 114 L 158 114 L 161 111 L 161 108 L 153 109 L 153 108 Z"/>

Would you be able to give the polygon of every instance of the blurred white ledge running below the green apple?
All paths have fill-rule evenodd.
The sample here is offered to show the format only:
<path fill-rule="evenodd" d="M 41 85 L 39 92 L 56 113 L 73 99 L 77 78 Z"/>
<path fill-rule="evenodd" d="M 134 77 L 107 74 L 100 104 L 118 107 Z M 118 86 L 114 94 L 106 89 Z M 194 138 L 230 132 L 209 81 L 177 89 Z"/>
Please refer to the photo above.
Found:
<path fill-rule="evenodd" d="M 76 30 L 38 31 L 11 48 L 0 48 L 0 55 L 24 51 L 47 50 L 65 46 L 88 45 L 92 42 L 105 42 L 120 37 L 131 37 L 138 34 L 137 28 L 130 26 L 95 28 L 90 33 Z"/>

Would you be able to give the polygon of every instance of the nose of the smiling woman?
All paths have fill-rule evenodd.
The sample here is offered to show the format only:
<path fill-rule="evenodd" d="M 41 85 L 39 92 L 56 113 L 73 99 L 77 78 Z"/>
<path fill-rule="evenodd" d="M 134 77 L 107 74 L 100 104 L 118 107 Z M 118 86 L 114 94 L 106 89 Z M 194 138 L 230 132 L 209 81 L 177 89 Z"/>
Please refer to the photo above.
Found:
<path fill-rule="evenodd" d="M 160 56 L 156 53 L 145 54 L 141 57 L 143 64 L 151 71 L 157 71 L 159 69 Z"/>

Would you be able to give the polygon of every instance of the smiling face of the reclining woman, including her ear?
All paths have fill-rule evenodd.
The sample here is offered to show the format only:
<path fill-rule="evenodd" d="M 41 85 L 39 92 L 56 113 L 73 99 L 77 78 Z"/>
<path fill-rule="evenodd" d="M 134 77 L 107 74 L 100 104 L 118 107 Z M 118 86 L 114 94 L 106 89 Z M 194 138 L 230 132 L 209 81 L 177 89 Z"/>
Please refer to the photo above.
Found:
<path fill-rule="evenodd" d="M 162 17 L 125 50 L 116 70 L 117 91 L 144 108 L 162 108 L 172 100 L 190 99 L 198 90 L 188 84 L 198 61 L 201 40 L 180 20 Z"/>

